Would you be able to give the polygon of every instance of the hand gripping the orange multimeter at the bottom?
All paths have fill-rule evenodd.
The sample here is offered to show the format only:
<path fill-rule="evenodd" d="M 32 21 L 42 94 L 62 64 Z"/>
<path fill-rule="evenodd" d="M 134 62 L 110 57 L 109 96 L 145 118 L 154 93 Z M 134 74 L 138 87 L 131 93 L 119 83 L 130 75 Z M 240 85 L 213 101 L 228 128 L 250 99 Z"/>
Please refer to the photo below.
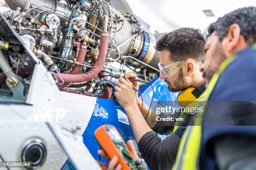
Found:
<path fill-rule="evenodd" d="M 127 147 L 130 149 L 133 157 L 135 158 L 135 160 L 138 160 L 138 155 L 136 152 L 136 149 L 133 145 L 133 141 L 132 140 L 128 140 L 127 142 Z M 120 164 L 118 164 L 118 157 L 115 156 L 112 158 L 112 160 L 110 160 L 110 158 L 108 157 L 108 155 L 105 153 L 104 150 L 98 150 L 98 154 L 100 156 L 102 156 L 103 158 L 105 158 L 107 161 L 109 161 L 109 164 L 105 164 L 105 163 L 101 163 L 100 161 L 97 161 L 98 164 L 100 165 L 100 167 L 102 168 L 102 170 L 121 170 L 122 166 Z"/>

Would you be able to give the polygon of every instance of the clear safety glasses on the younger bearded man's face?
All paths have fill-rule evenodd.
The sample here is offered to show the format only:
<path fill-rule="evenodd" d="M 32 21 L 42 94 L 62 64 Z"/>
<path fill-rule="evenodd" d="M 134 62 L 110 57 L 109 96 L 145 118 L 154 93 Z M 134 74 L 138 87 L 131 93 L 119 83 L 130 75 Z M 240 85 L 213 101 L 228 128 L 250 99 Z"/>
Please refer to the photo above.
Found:
<path fill-rule="evenodd" d="M 174 75 L 179 69 L 182 68 L 186 60 L 182 60 L 179 62 L 175 62 L 170 65 L 161 65 L 160 62 L 158 63 L 159 70 L 164 74 L 164 77 L 168 78 Z"/>

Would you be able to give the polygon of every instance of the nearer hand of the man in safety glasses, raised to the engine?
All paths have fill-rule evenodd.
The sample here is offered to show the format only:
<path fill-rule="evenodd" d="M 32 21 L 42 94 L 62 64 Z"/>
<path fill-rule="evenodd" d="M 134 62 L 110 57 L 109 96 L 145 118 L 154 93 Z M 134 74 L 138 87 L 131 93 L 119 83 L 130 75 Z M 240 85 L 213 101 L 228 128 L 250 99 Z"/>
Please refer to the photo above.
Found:
<path fill-rule="evenodd" d="M 117 86 L 115 86 L 115 97 L 119 104 L 125 111 L 129 108 L 138 107 L 131 82 L 126 81 L 123 77 L 120 77 L 118 81 Z"/>

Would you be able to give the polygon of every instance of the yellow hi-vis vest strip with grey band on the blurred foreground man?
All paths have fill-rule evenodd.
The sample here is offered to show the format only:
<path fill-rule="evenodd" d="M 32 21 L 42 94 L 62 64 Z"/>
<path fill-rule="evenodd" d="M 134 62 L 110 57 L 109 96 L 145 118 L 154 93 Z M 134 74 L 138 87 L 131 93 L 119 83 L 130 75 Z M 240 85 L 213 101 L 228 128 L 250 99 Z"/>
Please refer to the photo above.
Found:
<path fill-rule="evenodd" d="M 228 57 L 221 65 L 217 73 L 212 76 L 205 90 L 204 101 L 207 101 L 210 94 L 222 72 L 225 68 L 236 59 L 236 55 Z M 202 114 L 197 115 L 202 117 Z M 202 119 L 199 119 L 198 123 L 202 123 Z M 196 124 L 197 125 L 197 124 Z M 184 135 L 182 136 L 179 144 L 179 150 L 172 170 L 198 170 L 199 169 L 199 155 L 201 144 L 201 126 L 187 126 Z"/>

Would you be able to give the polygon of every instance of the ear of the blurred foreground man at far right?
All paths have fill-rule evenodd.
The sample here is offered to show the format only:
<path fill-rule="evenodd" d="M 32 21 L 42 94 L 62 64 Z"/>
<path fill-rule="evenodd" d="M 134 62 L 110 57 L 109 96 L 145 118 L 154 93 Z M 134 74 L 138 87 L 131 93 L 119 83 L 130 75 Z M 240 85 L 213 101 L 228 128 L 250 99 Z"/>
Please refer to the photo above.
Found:
<path fill-rule="evenodd" d="M 223 39 L 223 50 L 226 56 L 233 54 L 234 49 L 236 49 L 239 43 L 240 37 L 240 27 L 237 24 L 232 24 L 229 27 L 228 35 Z"/>

